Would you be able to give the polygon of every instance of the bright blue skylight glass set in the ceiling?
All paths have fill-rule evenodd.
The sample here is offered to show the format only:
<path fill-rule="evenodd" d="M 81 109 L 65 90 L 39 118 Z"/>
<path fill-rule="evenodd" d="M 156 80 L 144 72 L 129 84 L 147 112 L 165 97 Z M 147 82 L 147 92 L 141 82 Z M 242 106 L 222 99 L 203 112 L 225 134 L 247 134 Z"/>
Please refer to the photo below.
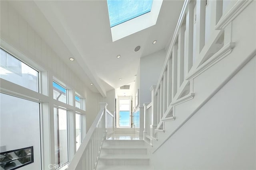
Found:
<path fill-rule="evenodd" d="M 110 27 L 151 11 L 153 0 L 107 0 Z"/>

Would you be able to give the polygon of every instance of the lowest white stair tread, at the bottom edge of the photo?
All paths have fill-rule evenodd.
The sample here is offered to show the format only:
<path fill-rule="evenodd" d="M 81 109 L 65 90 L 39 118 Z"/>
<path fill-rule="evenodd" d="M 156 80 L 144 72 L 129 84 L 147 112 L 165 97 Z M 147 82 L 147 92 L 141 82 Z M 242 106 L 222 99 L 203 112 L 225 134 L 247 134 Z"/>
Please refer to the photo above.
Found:
<path fill-rule="evenodd" d="M 100 165 L 97 166 L 96 170 L 154 170 L 149 165 Z"/>

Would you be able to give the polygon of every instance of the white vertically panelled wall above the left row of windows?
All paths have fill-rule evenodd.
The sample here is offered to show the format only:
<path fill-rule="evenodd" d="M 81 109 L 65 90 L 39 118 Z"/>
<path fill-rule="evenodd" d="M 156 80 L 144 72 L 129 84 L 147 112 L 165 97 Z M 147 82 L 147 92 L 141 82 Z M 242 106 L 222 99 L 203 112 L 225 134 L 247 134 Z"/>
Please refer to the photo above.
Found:
<path fill-rule="evenodd" d="M 4 39 L 27 57 L 24 59 L 27 61 L 24 62 L 29 64 L 32 61 L 38 64 L 48 72 L 49 76 L 53 75 L 58 78 L 68 88 L 75 89 L 82 98 L 86 99 L 86 129 L 89 129 L 100 109 L 98 103 L 104 102 L 105 99 L 85 86 L 85 82 L 74 74 L 54 52 L 54 49 L 48 46 L 48 43 L 16 12 L 8 1 L 1 1 L 0 35 L 1 39 Z M 9 52 L 15 55 L 14 52 Z M 20 56 L 16 57 L 19 58 Z"/>

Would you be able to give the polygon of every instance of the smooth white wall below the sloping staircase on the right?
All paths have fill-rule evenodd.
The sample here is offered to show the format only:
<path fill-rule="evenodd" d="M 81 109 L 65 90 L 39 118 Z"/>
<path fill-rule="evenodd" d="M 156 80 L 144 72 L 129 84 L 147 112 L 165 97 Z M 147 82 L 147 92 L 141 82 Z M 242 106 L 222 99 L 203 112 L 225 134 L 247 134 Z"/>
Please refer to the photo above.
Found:
<path fill-rule="evenodd" d="M 255 94 L 256 57 L 153 154 L 155 168 L 255 169 Z"/>

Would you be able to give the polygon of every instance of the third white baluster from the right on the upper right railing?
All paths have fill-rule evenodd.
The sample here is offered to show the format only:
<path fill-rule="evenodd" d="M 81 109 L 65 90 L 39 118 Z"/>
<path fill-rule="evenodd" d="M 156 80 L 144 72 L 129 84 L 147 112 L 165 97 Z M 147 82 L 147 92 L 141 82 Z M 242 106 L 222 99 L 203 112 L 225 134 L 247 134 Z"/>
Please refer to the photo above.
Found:
<path fill-rule="evenodd" d="M 194 32 L 194 2 L 188 5 L 186 13 L 186 41 L 184 52 L 184 75 L 188 75 L 193 65 L 193 32 Z"/>

